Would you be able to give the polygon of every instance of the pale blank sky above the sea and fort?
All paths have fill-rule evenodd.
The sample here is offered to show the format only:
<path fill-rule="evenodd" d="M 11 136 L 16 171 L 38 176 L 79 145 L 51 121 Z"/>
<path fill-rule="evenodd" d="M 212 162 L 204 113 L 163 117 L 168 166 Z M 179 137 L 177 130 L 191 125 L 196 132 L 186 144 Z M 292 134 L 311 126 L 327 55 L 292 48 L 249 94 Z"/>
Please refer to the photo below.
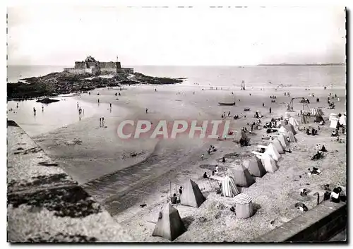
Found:
<path fill-rule="evenodd" d="M 122 66 L 345 62 L 345 9 L 8 8 L 8 64 Z"/>

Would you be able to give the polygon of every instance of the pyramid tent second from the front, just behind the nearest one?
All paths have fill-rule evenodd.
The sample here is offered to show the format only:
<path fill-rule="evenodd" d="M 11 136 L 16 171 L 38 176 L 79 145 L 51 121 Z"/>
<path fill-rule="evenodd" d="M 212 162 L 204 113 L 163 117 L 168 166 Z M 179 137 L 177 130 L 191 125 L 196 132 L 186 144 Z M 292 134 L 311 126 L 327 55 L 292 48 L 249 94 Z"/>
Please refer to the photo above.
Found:
<path fill-rule="evenodd" d="M 180 195 L 180 204 L 184 206 L 200 207 L 206 198 L 201 193 L 198 185 L 191 179 L 186 182 L 183 193 Z"/>

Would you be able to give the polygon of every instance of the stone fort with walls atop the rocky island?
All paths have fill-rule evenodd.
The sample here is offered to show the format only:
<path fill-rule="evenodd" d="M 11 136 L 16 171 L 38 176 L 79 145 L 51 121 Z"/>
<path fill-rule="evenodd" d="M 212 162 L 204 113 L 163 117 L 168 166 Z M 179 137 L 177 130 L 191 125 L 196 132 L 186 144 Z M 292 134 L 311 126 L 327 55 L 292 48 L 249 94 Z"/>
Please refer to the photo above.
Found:
<path fill-rule="evenodd" d="M 118 61 L 118 56 L 116 56 L 116 62 L 96 61 L 92 56 L 87 56 L 85 61 L 75 61 L 74 68 L 64 68 L 64 72 L 76 74 L 99 74 L 103 72 L 133 73 L 133 68 L 121 68 L 121 63 Z"/>

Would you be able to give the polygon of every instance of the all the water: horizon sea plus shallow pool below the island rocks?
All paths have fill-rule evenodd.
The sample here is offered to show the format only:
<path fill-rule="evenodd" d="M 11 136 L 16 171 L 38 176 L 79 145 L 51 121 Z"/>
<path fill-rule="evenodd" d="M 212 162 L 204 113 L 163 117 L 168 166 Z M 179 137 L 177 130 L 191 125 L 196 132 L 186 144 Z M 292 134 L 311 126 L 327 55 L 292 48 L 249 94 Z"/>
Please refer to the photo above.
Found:
<path fill-rule="evenodd" d="M 68 66 L 8 66 L 8 83 L 16 83 L 23 78 L 37 77 L 60 72 Z M 331 85 L 334 89 L 345 89 L 345 66 L 131 66 L 136 72 L 145 75 L 170 78 L 185 78 L 183 85 L 215 87 L 237 87 L 244 80 L 246 87 L 291 87 L 323 89 Z M 95 104 L 63 97 L 60 102 L 43 105 L 28 100 L 8 101 L 8 119 L 16 121 L 30 136 L 55 130 L 80 119 L 88 118 L 101 111 Z M 19 104 L 17 108 L 17 104 Z M 78 115 L 75 107 L 79 104 L 85 114 Z M 33 108 L 37 115 L 33 116 Z M 65 111 L 62 111 L 65 110 Z"/>

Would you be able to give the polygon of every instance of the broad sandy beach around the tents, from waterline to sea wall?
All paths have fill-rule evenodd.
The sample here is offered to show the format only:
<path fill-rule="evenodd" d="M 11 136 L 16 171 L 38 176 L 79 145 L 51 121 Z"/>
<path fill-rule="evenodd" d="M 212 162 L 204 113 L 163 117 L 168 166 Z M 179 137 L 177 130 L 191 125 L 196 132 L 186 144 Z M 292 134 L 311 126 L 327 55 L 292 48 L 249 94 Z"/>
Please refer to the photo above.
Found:
<path fill-rule="evenodd" d="M 157 91 L 155 91 L 157 89 Z M 204 90 L 202 90 L 204 89 Z M 274 229 L 290 219 L 297 217 L 300 212 L 294 207 L 295 202 L 305 202 L 309 209 L 316 205 L 316 196 L 312 194 L 325 192 L 321 186 L 346 186 L 346 144 L 334 142 L 330 137 L 332 129 L 329 122 L 321 126 L 317 136 L 309 136 L 298 131 L 297 143 L 291 144 L 292 153 L 286 153 L 278 162 L 279 170 L 273 174 L 266 174 L 263 178 L 256 178 L 256 183 L 249 188 L 243 188 L 253 198 L 258 207 L 256 214 L 250 219 L 239 220 L 232 215 L 229 207 L 232 198 L 223 198 L 215 194 L 217 184 L 209 183 L 202 178 L 205 165 L 220 164 L 220 159 L 229 153 L 237 153 L 239 157 L 228 157 L 224 167 L 240 164 L 255 145 L 266 144 L 261 140 L 265 130 L 256 130 L 251 138 L 250 147 L 239 147 L 232 140 L 201 140 L 178 138 L 177 140 L 132 139 L 121 140 L 116 134 L 119 122 L 132 120 L 149 120 L 157 123 L 159 120 L 220 120 L 223 112 L 231 111 L 230 130 L 238 130 L 247 123 L 256 121 L 255 111 L 264 115 L 263 122 L 272 117 L 285 114 L 285 102 L 292 97 L 308 97 L 310 108 L 321 107 L 328 118 L 331 112 L 345 112 L 345 90 L 311 89 L 306 91 L 298 88 L 248 89 L 239 91 L 232 87 L 220 90 L 210 90 L 205 86 L 162 85 L 162 86 L 131 86 L 125 90 L 100 89 L 83 94 L 80 101 L 97 104 L 102 112 L 73 123 L 65 128 L 59 128 L 51 133 L 35 137 L 35 141 L 43 147 L 50 157 L 59 162 L 71 176 L 83 184 L 93 197 L 102 202 L 107 210 L 121 223 L 126 224 L 132 236 L 140 241 L 165 241 L 163 238 L 151 237 L 152 229 L 157 220 L 157 213 L 161 205 L 170 196 L 169 184 L 183 184 L 189 178 L 196 181 L 208 199 L 204 204 L 194 209 L 177 206 L 179 214 L 186 223 L 188 231 L 176 241 L 249 241 L 266 231 Z M 193 94 L 195 91 L 195 94 Z M 234 95 L 232 95 L 232 91 Z M 97 92 L 100 95 L 97 95 Z M 121 92 L 121 96 L 115 96 Z M 179 94 L 180 92 L 180 94 Z M 290 97 L 284 95 L 290 92 Z M 340 98 L 334 99 L 335 110 L 328 109 L 327 96 L 332 92 Z M 315 97 L 309 97 L 314 93 Z M 251 94 L 251 95 L 249 95 Z M 275 103 L 270 95 L 276 95 Z M 316 103 L 316 97 L 320 102 Z M 217 102 L 229 99 L 236 101 L 236 106 L 219 106 Z M 294 99 L 294 110 L 300 111 L 303 104 L 300 99 Z M 112 103 L 112 111 L 109 110 Z M 265 107 L 262 107 L 262 104 Z M 282 104 L 281 104 L 282 103 Z M 269 114 L 269 108 L 272 114 Z M 76 107 L 73 107 L 76 108 Z M 148 108 L 148 114 L 145 113 Z M 251 111 L 244 111 L 250 108 Z M 234 114 L 242 115 L 241 119 L 233 120 Z M 99 118 L 104 116 L 107 128 L 100 128 Z M 245 117 L 246 116 L 246 117 Z M 298 121 L 300 119 L 297 118 Z M 311 125 L 317 128 L 311 120 Z M 308 126 L 308 125 L 306 125 Z M 79 140 L 76 145 L 69 142 Z M 345 140 L 345 138 L 344 138 Z M 316 144 L 325 145 L 327 156 L 318 162 L 311 161 Z M 209 145 L 215 145 L 219 150 L 211 155 L 206 152 Z M 201 161 L 200 155 L 205 153 Z M 131 156 L 134 154 L 134 156 Z M 318 166 L 323 174 L 309 177 L 306 172 L 309 167 Z M 206 167 L 207 168 L 207 167 Z M 301 188 L 309 188 L 311 194 L 303 199 L 299 195 Z M 173 192 L 174 193 L 174 192 Z M 146 207 L 139 207 L 140 204 Z M 215 212 L 220 212 L 216 215 Z M 207 221 L 201 219 L 206 217 Z M 202 220 L 200 221 L 199 220 Z M 189 221 L 188 221 L 189 220 Z M 271 221 L 273 221 L 271 223 Z M 231 227 L 232 229 L 229 229 Z M 234 231 L 237 229 L 237 233 Z M 217 233 L 217 236 L 215 236 Z M 221 236 L 219 236 L 221 235 Z"/>

